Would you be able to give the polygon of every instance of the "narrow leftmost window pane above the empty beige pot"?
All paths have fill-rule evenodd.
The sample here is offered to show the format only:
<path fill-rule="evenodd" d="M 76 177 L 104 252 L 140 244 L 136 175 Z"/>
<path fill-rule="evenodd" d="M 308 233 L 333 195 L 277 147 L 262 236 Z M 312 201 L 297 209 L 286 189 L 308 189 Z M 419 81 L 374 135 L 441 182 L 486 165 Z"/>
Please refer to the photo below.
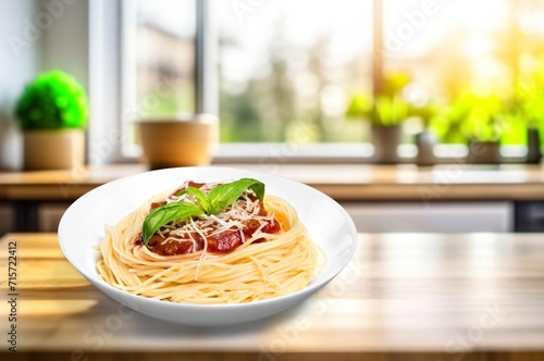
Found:
<path fill-rule="evenodd" d="M 143 107 L 143 115 L 194 112 L 195 1 L 139 0 L 138 5 L 138 101 L 157 98 Z"/>

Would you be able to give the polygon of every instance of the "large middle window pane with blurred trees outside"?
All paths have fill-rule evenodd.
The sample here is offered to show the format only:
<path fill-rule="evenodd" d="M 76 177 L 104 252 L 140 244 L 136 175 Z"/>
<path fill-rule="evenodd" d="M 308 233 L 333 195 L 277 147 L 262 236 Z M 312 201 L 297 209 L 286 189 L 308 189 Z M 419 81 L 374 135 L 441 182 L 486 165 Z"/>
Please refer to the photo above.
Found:
<path fill-rule="evenodd" d="M 369 140 L 344 114 L 372 88 L 372 1 L 212 0 L 210 16 L 222 141 Z"/>

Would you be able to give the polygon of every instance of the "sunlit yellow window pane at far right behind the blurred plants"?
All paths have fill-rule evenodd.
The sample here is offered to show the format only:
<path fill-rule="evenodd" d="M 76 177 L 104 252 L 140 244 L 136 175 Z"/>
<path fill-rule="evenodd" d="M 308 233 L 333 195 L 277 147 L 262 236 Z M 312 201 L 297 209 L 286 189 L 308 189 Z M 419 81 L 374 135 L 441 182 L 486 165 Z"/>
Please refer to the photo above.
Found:
<path fill-rule="evenodd" d="M 502 141 L 523 144 L 527 114 L 516 89 L 543 99 L 543 24 L 537 0 L 384 0 L 384 73 L 409 74 L 411 97 L 449 109 L 497 97 Z M 473 134 L 461 114 L 432 124 L 443 142 Z"/>

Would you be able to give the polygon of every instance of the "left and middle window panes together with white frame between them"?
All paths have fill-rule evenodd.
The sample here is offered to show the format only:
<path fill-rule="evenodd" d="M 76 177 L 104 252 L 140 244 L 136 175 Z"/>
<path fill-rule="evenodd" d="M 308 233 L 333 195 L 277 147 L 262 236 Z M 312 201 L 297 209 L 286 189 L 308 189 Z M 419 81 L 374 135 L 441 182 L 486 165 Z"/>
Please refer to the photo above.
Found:
<path fill-rule="evenodd" d="M 345 109 L 372 89 L 371 1 L 126 0 L 122 14 L 123 155 L 138 154 L 134 119 L 194 111 L 219 113 L 227 157 L 248 144 L 313 157 L 311 145 L 345 142 L 370 154 L 368 124 Z"/>

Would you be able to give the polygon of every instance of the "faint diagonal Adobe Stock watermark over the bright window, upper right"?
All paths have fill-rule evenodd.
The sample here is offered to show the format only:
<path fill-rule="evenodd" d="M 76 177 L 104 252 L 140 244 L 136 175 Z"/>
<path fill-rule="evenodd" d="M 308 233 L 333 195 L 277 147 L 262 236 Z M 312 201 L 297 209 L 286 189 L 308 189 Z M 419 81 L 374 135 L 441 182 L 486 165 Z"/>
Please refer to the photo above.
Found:
<path fill-rule="evenodd" d="M 413 38 L 421 30 L 430 16 L 438 12 L 438 7 L 435 0 L 426 0 L 421 4 L 419 10 L 405 12 L 403 17 L 405 21 L 397 25 L 394 30 L 387 30 L 385 34 L 384 46 L 387 52 L 397 52 L 403 49 L 405 43 Z"/>

